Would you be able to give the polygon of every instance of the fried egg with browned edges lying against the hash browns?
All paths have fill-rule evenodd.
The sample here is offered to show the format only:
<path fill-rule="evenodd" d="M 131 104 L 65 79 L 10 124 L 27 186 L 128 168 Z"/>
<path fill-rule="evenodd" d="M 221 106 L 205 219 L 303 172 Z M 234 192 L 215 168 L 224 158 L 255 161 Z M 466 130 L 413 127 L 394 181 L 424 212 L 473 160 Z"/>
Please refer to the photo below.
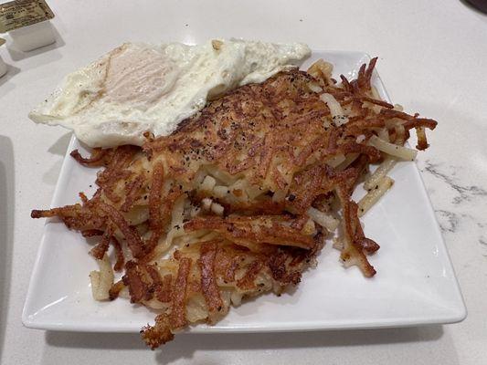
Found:
<path fill-rule="evenodd" d="M 310 56 L 303 44 L 213 39 L 198 46 L 125 43 L 69 74 L 29 117 L 74 130 L 90 147 L 168 135 L 229 89 L 261 82 Z"/>

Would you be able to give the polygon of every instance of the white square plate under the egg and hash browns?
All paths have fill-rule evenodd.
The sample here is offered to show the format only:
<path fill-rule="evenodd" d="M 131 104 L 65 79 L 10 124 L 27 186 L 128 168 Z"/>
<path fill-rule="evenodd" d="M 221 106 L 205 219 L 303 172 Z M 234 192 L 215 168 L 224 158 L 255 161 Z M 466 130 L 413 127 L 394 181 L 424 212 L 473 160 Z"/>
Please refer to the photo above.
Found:
<path fill-rule="evenodd" d="M 343 73 L 348 78 L 355 77 L 360 65 L 370 60 L 359 52 L 314 52 L 305 67 L 318 58 L 333 63 L 336 77 Z M 388 100 L 377 75 L 373 82 Z M 75 148 L 82 150 L 73 138 L 69 151 Z M 94 192 L 88 187 L 94 183 L 96 171 L 80 166 L 69 151 L 52 206 L 77 202 L 81 191 Z M 319 265 L 304 273 L 292 294 L 258 297 L 232 308 L 216 326 L 199 325 L 189 331 L 384 328 L 465 318 L 461 291 L 415 163 L 399 163 L 391 176 L 394 187 L 362 219 L 365 235 L 381 245 L 370 257 L 377 270 L 374 278 L 365 278 L 356 267 L 341 266 L 339 253 L 328 242 Z M 48 220 L 22 316 L 26 327 L 135 332 L 154 321 L 154 312 L 126 299 L 93 300 L 88 274 L 96 264 L 89 249 L 79 233 Z"/>

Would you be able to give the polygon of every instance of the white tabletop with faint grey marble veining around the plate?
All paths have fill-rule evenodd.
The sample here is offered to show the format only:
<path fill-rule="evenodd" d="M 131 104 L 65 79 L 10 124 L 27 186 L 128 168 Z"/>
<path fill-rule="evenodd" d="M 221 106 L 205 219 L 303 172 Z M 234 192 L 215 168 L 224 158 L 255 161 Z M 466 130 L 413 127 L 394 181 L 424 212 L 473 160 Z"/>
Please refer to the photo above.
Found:
<path fill-rule="evenodd" d="M 57 42 L 7 47 L 0 78 L 2 364 L 487 363 L 487 16 L 457 0 L 49 1 Z M 185 334 L 164 349 L 139 335 L 25 328 L 21 312 L 69 130 L 28 111 L 70 71 L 122 42 L 243 37 L 378 56 L 391 99 L 439 120 L 418 168 L 468 308 L 457 324 L 298 333 Z M 7 39 L 8 40 L 8 39 Z M 414 229 L 414 227 L 411 227 Z M 339 265 L 337 263 L 337 265 Z M 60 273 L 59 275 L 62 275 Z"/>

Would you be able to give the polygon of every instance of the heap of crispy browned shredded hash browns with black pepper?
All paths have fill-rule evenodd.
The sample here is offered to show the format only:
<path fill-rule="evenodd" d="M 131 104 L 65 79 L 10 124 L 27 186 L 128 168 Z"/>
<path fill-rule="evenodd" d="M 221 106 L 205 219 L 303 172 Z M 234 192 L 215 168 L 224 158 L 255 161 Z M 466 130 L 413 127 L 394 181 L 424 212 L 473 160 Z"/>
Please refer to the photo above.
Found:
<path fill-rule="evenodd" d="M 359 215 L 391 186 L 394 164 L 415 157 L 403 146 L 409 131 L 423 150 L 424 129 L 437 124 L 381 100 L 375 65 L 340 82 L 323 60 L 307 72 L 285 69 L 209 101 L 170 135 L 146 132 L 142 147 L 72 151 L 103 168 L 99 189 L 32 217 L 100 237 L 90 250 L 101 267 L 91 273 L 93 296 L 157 310 L 141 331 L 152 349 L 191 324 L 217 322 L 243 298 L 297 285 L 335 231 L 344 266 L 374 276 L 367 255 L 379 245 Z M 371 163 L 379 163 L 372 174 Z M 368 192 L 355 203 L 364 178 Z"/>

